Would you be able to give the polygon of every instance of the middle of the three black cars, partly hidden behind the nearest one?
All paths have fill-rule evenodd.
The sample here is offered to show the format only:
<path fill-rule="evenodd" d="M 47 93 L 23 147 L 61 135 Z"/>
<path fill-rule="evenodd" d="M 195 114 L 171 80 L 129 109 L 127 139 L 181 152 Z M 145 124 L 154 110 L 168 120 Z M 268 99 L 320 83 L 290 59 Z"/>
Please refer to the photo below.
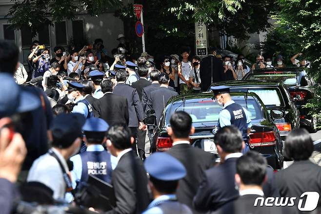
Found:
<path fill-rule="evenodd" d="M 268 111 L 280 111 L 282 117 L 274 119 L 274 122 L 279 128 L 283 141 L 292 129 L 300 127 L 300 112 L 293 103 L 290 92 L 283 82 L 226 81 L 216 83 L 213 86 L 230 86 L 231 92 L 254 92 L 260 97 Z"/>

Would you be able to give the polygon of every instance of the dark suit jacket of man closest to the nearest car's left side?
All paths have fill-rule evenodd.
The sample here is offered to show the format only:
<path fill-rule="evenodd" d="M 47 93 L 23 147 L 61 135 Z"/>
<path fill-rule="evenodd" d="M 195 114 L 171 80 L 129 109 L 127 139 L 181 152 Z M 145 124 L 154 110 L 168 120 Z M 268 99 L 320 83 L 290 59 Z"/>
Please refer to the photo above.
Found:
<path fill-rule="evenodd" d="M 150 93 L 150 99 L 147 101 L 146 109 L 154 109 L 156 114 L 157 124 L 160 122 L 161 114 L 171 97 L 179 94 L 166 87 L 160 87 Z"/>

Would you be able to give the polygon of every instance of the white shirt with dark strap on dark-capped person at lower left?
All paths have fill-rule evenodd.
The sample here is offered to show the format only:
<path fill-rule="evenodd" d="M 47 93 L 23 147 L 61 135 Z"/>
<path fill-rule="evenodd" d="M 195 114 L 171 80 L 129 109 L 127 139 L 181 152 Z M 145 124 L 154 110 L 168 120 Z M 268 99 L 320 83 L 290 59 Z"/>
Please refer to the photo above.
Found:
<path fill-rule="evenodd" d="M 51 149 L 58 156 L 62 166 L 65 171 L 69 173 L 69 169 L 66 160 L 62 157 L 58 150 Z M 66 192 L 66 183 L 63 179 L 62 170 L 56 158 L 51 156 L 49 153 L 41 155 L 32 164 L 27 182 L 37 181 L 54 191 L 54 199 L 64 199 L 64 194 Z"/>

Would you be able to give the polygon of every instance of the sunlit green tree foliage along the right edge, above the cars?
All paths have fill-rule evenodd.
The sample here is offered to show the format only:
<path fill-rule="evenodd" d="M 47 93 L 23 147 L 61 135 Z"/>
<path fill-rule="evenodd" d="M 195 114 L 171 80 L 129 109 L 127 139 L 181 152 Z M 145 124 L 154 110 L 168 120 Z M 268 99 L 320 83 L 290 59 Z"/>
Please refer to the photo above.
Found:
<path fill-rule="evenodd" d="M 279 11 L 273 17 L 283 36 L 291 38 L 294 52 L 311 62 L 309 75 L 315 79 L 315 98 L 306 106 L 321 116 L 321 2 L 320 0 L 276 0 Z"/>

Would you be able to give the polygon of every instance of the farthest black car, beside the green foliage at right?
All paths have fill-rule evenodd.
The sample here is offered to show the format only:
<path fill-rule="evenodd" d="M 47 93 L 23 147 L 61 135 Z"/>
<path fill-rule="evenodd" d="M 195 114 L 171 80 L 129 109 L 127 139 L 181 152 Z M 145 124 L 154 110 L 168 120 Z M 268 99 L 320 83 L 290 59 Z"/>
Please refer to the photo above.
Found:
<path fill-rule="evenodd" d="M 303 107 L 309 99 L 314 97 L 310 86 L 315 82 L 306 74 L 307 68 L 301 67 L 282 67 L 282 68 L 263 68 L 248 72 L 243 80 L 272 80 L 283 82 L 288 86 L 290 95 L 300 111 L 300 124 L 306 127 L 311 133 L 317 131 L 318 120 L 309 115 L 311 109 Z"/>

